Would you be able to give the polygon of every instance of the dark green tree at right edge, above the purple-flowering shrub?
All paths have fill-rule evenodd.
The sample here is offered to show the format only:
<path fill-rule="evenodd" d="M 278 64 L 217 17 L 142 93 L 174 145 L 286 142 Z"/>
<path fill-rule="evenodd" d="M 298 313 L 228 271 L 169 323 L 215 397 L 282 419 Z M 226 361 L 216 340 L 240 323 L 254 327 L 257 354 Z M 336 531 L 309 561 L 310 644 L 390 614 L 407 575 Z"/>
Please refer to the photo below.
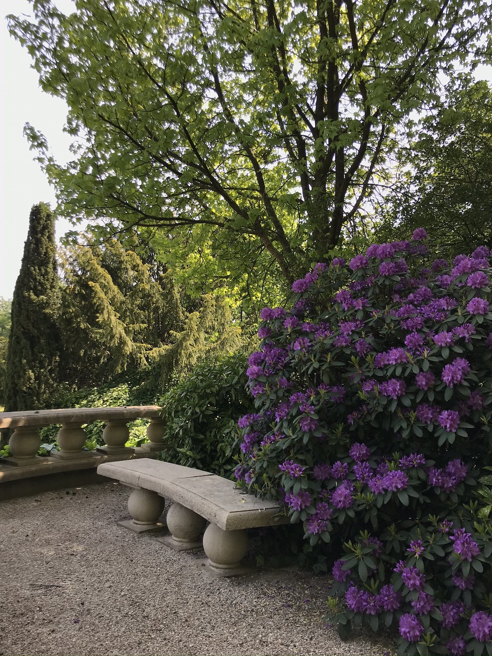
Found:
<path fill-rule="evenodd" d="M 400 180 L 386 196 L 381 239 L 428 228 L 447 255 L 492 247 L 492 88 L 450 94 L 401 153 Z"/>

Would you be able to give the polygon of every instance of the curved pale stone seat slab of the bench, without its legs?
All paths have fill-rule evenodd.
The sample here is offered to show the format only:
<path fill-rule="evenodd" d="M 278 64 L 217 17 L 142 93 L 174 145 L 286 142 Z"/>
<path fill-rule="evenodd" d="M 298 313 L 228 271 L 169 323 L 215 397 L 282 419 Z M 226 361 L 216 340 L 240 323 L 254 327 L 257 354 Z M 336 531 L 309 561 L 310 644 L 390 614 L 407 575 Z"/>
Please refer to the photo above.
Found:
<path fill-rule="evenodd" d="M 224 531 L 289 523 L 287 516 L 277 516 L 282 510 L 278 503 L 253 497 L 237 489 L 234 481 L 180 464 L 142 458 L 105 462 L 97 472 L 170 497 Z"/>

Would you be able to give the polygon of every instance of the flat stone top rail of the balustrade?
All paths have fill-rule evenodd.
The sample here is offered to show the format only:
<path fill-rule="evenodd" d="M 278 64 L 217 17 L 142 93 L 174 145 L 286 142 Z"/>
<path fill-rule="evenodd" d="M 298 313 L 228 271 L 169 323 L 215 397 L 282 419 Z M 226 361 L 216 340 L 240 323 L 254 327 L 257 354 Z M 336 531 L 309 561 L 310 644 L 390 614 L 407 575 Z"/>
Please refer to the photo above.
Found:
<path fill-rule="evenodd" d="M 63 408 L 58 410 L 26 410 L 0 413 L 0 428 L 17 426 L 49 426 L 50 424 L 90 424 L 102 421 L 133 421 L 139 417 L 157 419 L 159 405 L 126 405 L 122 407 Z"/>

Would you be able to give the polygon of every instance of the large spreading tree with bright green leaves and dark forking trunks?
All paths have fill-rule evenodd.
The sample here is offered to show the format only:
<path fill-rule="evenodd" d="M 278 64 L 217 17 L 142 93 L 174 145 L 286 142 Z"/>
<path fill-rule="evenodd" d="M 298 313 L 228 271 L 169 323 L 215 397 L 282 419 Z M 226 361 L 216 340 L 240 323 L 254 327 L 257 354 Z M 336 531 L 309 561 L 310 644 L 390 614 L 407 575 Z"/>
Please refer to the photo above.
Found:
<path fill-rule="evenodd" d="M 178 266 L 291 281 L 358 216 L 440 79 L 489 50 L 488 0 L 80 0 L 10 17 L 76 159 L 31 143 L 60 211 L 160 232 Z M 94 38 L 97 35 L 97 38 Z M 443 75 L 442 75 L 443 74 Z M 197 255 L 198 254 L 198 255 Z"/>

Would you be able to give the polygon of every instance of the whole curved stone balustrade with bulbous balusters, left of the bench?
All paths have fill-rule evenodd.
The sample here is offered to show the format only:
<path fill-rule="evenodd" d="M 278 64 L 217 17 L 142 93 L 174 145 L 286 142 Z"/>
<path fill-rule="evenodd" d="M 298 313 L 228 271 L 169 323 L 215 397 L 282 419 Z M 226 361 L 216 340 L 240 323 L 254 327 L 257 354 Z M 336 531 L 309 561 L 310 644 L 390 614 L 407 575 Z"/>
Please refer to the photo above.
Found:
<path fill-rule="evenodd" d="M 0 429 L 14 429 L 10 436 L 10 456 L 0 461 L 0 483 L 20 481 L 30 477 L 47 477 L 60 472 L 93 469 L 102 462 L 127 460 L 134 457 L 155 457 L 163 449 L 164 422 L 158 405 L 125 407 L 64 408 L 0 413 Z M 137 448 L 125 446 L 129 440 L 128 424 L 135 419 L 150 419 L 148 442 Z M 102 420 L 104 445 L 96 451 L 84 451 L 87 440 L 84 426 Z M 59 451 L 41 457 L 39 429 L 59 424 L 56 436 Z M 2 491 L 0 490 L 0 498 Z"/>

